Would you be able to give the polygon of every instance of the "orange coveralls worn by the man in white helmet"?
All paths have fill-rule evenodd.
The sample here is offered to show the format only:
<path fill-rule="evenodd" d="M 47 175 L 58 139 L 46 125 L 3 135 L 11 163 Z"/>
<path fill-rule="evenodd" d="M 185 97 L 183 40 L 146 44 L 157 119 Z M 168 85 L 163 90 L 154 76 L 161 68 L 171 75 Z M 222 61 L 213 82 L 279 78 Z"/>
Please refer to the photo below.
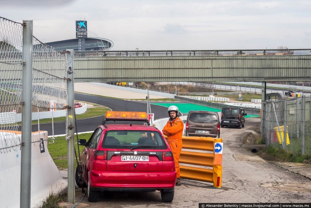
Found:
<path fill-rule="evenodd" d="M 165 124 L 162 130 L 163 134 L 168 137 L 167 141 L 173 152 L 177 178 L 180 178 L 179 155 L 183 147 L 183 141 L 181 139 L 183 131 L 184 131 L 184 123 L 179 118 L 179 116 L 177 116 L 177 118 L 175 118 L 175 120 L 173 121 L 168 120 L 168 122 Z"/>

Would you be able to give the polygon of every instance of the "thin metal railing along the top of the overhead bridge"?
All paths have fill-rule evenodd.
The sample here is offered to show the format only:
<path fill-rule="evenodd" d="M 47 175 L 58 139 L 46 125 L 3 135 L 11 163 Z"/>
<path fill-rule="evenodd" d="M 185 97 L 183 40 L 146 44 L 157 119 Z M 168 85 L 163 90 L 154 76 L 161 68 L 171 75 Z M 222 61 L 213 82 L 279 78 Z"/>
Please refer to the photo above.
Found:
<path fill-rule="evenodd" d="M 75 57 L 163 57 L 163 56 L 284 56 L 310 55 L 311 49 L 169 50 L 169 51 L 75 51 Z"/>

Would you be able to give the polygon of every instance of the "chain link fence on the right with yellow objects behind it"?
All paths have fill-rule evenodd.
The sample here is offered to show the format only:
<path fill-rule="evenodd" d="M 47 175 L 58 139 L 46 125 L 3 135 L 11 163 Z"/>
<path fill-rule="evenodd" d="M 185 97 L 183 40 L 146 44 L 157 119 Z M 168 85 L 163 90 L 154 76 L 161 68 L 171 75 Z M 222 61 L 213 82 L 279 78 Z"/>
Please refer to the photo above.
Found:
<path fill-rule="evenodd" d="M 280 146 L 296 155 L 311 155 L 310 97 L 266 101 L 261 108 L 262 137 L 266 146 Z"/>

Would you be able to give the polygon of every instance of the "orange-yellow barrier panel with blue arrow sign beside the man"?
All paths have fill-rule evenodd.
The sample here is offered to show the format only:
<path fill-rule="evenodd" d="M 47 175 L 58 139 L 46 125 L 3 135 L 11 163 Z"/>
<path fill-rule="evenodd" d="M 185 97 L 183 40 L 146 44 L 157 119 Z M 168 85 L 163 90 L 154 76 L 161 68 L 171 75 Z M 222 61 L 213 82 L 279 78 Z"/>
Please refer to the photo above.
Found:
<path fill-rule="evenodd" d="M 167 136 L 165 136 L 165 138 L 167 139 Z M 212 167 L 212 169 L 180 165 L 181 178 L 210 182 L 213 183 L 214 188 L 221 188 L 223 174 L 223 139 L 183 136 L 182 140 L 183 151 L 180 153 L 179 163 Z M 211 152 L 184 151 L 184 149 Z"/>

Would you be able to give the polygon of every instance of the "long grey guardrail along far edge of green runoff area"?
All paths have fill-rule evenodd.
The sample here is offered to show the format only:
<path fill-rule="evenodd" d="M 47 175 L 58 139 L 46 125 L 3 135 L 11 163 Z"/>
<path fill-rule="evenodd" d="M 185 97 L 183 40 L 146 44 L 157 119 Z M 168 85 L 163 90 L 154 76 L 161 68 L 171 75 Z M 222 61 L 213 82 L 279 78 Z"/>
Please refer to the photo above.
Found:
<path fill-rule="evenodd" d="M 207 101 L 202 101 L 202 100 L 189 99 L 189 98 L 185 98 L 181 96 L 175 96 L 175 99 L 179 101 L 184 101 L 188 103 L 203 105 L 203 106 L 207 106 L 210 108 L 217 108 L 217 109 L 222 109 L 223 107 L 230 106 L 230 105 L 221 104 L 221 103 L 213 103 L 213 102 L 207 102 Z M 232 107 L 237 107 L 237 106 L 232 105 Z M 242 108 L 244 109 L 245 113 L 252 113 L 253 115 L 259 115 L 260 113 L 260 109 L 257 109 L 257 108 L 245 108 L 245 107 L 242 107 Z"/>

